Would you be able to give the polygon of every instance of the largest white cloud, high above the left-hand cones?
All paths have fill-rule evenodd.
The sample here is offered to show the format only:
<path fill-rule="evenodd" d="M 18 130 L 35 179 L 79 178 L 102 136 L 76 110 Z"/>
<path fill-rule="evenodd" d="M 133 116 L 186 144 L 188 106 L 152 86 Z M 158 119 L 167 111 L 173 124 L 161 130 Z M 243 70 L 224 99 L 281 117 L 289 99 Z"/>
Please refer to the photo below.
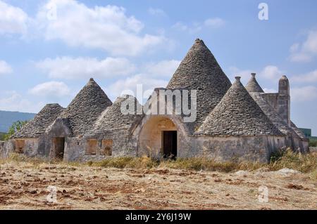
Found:
<path fill-rule="evenodd" d="M 49 20 L 49 6 L 56 6 L 56 19 Z M 60 39 L 69 46 L 101 48 L 112 55 L 138 55 L 165 40 L 140 34 L 144 25 L 118 6 L 89 8 L 72 0 L 50 0 L 37 14 L 47 40 Z"/>

